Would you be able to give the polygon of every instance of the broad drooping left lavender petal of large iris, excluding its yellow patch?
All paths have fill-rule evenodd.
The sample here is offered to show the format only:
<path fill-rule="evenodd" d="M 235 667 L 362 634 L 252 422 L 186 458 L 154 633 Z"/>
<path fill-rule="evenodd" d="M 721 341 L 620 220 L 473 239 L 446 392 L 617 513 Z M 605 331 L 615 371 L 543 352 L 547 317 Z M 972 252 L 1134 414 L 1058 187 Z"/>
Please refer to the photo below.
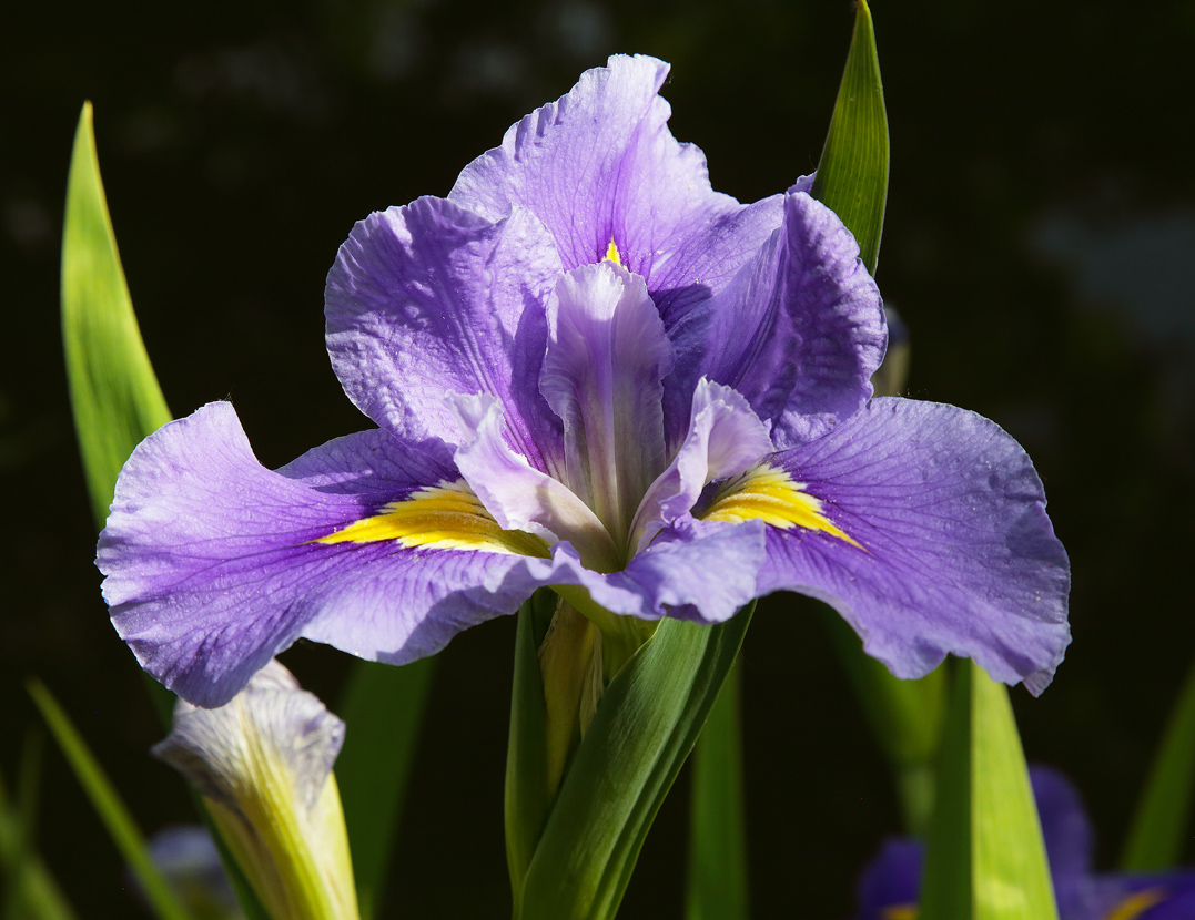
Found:
<path fill-rule="evenodd" d="M 216 706 L 300 635 L 403 663 L 515 611 L 535 584 L 525 576 L 503 588 L 521 556 L 313 542 L 458 480 L 439 455 L 442 445 L 428 451 L 370 431 L 271 473 L 228 403 L 165 426 L 125 464 L 100 535 L 97 564 L 117 632 L 167 687 Z"/>

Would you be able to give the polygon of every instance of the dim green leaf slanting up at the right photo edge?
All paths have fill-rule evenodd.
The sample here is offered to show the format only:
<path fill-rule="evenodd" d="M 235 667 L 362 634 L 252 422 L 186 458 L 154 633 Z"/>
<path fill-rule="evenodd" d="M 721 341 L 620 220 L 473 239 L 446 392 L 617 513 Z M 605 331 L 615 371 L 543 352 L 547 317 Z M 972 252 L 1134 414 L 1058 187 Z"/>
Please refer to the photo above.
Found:
<path fill-rule="evenodd" d="M 1195 783 L 1195 667 L 1170 714 L 1121 865 L 1130 872 L 1170 869 L 1178 863 L 1191 813 Z"/>

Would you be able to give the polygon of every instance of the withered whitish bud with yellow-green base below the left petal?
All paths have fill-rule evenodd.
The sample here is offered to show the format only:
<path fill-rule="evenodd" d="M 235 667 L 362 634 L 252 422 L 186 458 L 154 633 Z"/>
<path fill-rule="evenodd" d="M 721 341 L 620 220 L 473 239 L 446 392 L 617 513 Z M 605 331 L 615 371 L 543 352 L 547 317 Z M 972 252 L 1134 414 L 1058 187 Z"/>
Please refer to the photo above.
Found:
<path fill-rule="evenodd" d="M 356 889 L 332 764 L 344 723 L 277 661 L 226 706 L 174 708 L 153 753 L 200 795 L 276 918 L 355 920 Z"/>

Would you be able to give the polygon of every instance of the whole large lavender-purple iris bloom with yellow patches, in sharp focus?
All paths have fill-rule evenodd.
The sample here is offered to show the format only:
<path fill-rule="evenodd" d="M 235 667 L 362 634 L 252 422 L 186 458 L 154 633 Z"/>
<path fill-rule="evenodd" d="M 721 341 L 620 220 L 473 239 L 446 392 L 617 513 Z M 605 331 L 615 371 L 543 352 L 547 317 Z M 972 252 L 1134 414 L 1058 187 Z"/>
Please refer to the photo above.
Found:
<path fill-rule="evenodd" d="M 899 677 L 1049 683 L 1070 576 L 1029 457 L 871 399 L 853 237 L 809 178 L 712 191 L 667 74 L 612 57 L 447 198 L 353 229 L 327 350 L 378 427 L 271 471 L 217 402 L 137 447 L 98 564 L 149 673 L 215 706 L 300 636 L 403 663 L 551 586 L 603 629 L 798 591 Z"/>

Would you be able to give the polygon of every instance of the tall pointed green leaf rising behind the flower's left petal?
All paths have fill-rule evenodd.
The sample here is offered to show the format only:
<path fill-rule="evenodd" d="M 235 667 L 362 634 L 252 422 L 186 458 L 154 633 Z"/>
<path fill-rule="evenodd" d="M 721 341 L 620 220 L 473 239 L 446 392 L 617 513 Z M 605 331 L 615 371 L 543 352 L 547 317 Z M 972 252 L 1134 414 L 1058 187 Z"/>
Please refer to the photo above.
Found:
<path fill-rule="evenodd" d="M 92 512 L 103 526 L 124 461 L 171 415 L 121 267 L 99 175 L 91 103 L 79 116 L 67 180 L 62 345 Z"/>

